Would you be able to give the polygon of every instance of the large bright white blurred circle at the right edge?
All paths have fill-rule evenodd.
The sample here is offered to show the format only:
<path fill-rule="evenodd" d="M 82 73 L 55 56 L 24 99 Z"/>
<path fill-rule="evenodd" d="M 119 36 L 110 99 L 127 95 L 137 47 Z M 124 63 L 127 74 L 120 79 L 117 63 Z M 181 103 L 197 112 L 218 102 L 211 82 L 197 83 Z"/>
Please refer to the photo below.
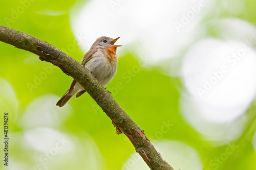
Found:
<path fill-rule="evenodd" d="M 255 65 L 256 52 L 246 41 L 208 38 L 191 46 L 181 74 L 204 118 L 228 122 L 241 115 L 254 99 Z"/>

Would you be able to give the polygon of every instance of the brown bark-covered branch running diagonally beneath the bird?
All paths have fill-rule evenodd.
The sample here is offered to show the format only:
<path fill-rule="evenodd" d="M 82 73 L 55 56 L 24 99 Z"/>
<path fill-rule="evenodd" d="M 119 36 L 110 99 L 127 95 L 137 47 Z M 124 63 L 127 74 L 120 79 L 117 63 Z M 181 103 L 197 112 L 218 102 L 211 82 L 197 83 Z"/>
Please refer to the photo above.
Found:
<path fill-rule="evenodd" d="M 162 159 L 160 153 L 145 136 L 144 131 L 135 124 L 132 118 L 117 104 L 113 96 L 78 61 L 45 41 L 1 25 L 0 41 L 34 53 L 39 56 L 40 60 L 58 66 L 65 74 L 73 77 L 111 118 L 117 132 L 120 133 L 121 130 L 131 140 L 136 152 L 151 169 L 174 170 Z"/>

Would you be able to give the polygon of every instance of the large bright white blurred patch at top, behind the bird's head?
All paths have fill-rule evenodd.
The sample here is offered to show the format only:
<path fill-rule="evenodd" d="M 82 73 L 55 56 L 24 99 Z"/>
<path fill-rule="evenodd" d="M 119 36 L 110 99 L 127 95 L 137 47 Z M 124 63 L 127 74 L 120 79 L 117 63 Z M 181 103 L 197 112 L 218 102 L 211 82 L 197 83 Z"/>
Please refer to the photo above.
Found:
<path fill-rule="evenodd" d="M 122 55 L 126 49 L 146 54 L 152 63 L 182 53 L 184 46 L 203 31 L 200 20 L 211 6 L 210 1 L 200 4 L 197 0 L 113 2 L 95 0 L 74 5 L 70 23 L 79 47 L 86 53 L 100 36 L 121 36 L 116 43 L 123 46 L 117 53 Z"/>

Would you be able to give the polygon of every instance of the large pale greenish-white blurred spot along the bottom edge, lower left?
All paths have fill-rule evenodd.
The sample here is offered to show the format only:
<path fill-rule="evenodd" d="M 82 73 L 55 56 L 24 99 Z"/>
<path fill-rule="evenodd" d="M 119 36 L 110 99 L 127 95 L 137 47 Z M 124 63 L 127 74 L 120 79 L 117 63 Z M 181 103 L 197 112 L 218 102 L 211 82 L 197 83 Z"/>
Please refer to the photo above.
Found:
<path fill-rule="evenodd" d="M 11 133 L 16 154 L 12 156 L 10 169 L 102 169 L 102 155 L 97 144 L 87 133 L 81 136 L 51 128 Z"/>

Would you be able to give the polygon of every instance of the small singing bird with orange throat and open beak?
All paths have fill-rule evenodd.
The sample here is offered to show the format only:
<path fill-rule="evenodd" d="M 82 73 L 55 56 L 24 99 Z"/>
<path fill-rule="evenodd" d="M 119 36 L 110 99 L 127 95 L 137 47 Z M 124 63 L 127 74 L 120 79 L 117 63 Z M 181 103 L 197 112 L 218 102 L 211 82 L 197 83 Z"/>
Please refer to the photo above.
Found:
<path fill-rule="evenodd" d="M 103 85 L 109 84 L 117 70 L 116 48 L 122 45 L 114 45 L 120 37 L 99 37 L 83 56 L 81 64 L 84 65 L 95 78 Z M 77 93 L 78 92 L 78 93 Z M 64 106 L 73 95 L 78 98 L 86 90 L 76 80 L 72 80 L 68 91 L 56 103 L 56 106 Z"/>

